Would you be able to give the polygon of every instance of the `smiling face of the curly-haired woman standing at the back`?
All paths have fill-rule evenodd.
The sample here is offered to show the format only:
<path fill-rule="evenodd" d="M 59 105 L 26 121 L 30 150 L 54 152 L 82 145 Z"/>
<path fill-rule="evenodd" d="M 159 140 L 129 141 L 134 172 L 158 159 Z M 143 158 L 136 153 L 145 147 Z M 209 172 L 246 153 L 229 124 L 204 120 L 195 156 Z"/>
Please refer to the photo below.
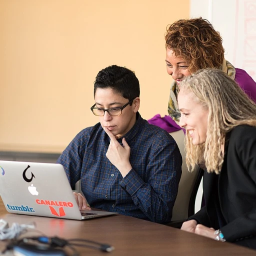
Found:
<path fill-rule="evenodd" d="M 166 69 L 167 73 L 179 84 L 182 79 L 191 73 L 188 71 L 188 63 L 181 57 L 176 57 L 175 53 L 166 48 Z"/>

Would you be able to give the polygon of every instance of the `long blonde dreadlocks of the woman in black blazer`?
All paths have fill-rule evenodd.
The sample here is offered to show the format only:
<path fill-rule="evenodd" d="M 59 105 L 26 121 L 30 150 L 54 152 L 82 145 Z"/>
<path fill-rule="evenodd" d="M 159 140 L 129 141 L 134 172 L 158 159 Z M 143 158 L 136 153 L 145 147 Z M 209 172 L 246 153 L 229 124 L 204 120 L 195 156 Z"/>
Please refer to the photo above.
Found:
<path fill-rule="evenodd" d="M 208 172 L 219 173 L 223 163 L 221 144 L 225 135 L 240 124 L 256 126 L 256 104 L 223 71 L 206 68 L 186 77 L 180 87 L 191 91 L 195 100 L 208 108 L 205 143 L 193 145 L 186 132 L 186 164 L 192 171 L 205 161 Z"/>

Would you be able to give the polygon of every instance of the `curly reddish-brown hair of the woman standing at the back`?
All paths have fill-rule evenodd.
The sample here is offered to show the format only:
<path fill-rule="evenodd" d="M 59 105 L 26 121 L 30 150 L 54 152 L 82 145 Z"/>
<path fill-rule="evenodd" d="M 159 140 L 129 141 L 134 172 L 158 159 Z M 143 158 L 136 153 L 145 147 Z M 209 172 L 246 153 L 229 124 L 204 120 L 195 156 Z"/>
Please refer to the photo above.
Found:
<path fill-rule="evenodd" d="M 166 27 L 165 47 L 188 63 L 191 73 L 220 68 L 224 59 L 222 38 L 207 19 L 179 19 Z"/>

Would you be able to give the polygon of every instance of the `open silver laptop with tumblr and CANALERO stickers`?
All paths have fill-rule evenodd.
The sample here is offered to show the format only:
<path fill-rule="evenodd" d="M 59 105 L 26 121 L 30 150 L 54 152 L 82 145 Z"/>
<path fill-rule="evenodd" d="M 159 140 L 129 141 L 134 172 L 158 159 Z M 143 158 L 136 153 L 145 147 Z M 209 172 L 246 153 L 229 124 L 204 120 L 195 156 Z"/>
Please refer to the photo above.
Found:
<path fill-rule="evenodd" d="M 0 196 L 10 213 L 68 219 L 117 214 L 79 210 L 64 167 L 58 163 L 0 160 Z"/>

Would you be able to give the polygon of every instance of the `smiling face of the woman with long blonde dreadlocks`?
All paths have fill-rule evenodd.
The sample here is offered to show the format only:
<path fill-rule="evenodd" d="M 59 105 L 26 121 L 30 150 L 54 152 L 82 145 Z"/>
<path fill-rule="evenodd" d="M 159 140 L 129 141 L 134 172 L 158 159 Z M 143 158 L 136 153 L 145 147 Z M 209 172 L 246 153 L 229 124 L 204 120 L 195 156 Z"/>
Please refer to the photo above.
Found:
<path fill-rule="evenodd" d="M 191 91 L 184 91 L 183 86 L 181 86 L 177 100 L 181 114 L 179 125 L 188 131 L 194 145 L 204 143 L 207 132 L 208 108 L 196 101 L 196 96 Z"/>

